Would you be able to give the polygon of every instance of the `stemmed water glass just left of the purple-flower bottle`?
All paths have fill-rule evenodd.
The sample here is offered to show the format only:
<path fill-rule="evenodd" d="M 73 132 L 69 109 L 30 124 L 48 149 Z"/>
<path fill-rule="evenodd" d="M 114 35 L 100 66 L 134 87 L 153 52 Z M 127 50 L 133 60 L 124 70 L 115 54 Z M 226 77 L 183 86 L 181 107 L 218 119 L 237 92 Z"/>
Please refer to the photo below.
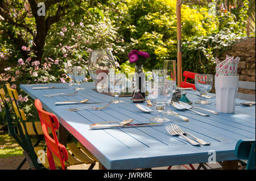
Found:
<path fill-rule="evenodd" d="M 113 74 L 112 74 L 113 75 Z M 119 99 L 120 93 L 125 89 L 126 75 L 123 73 L 110 75 L 110 92 L 114 93 L 114 104 L 124 103 L 123 100 Z"/>

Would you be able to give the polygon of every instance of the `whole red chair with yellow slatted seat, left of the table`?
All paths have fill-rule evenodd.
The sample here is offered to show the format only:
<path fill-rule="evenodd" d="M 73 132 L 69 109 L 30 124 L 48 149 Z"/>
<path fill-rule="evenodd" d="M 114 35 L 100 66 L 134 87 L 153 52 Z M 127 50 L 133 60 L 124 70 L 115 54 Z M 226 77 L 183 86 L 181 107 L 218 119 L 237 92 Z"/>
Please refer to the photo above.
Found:
<path fill-rule="evenodd" d="M 56 130 L 59 129 L 60 126 L 57 117 L 53 113 L 44 111 L 39 99 L 35 100 L 35 107 L 37 108 L 39 113 L 40 121 L 42 124 L 42 130 L 47 145 L 48 162 L 45 163 L 44 166 L 46 168 L 49 167 L 49 169 L 51 170 L 55 170 L 56 163 L 57 166 L 60 166 L 63 170 L 65 170 L 67 166 L 85 163 L 91 164 L 89 169 L 92 169 L 96 161 L 89 158 L 88 155 L 84 154 L 84 152 L 77 148 L 77 146 L 74 143 L 68 144 L 68 146 L 69 149 L 71 149 L 72 153 L 78 159 L 73 157 L 73 155 L 68 152 L 65 146 L 59 143 L 56 135 Z M 52 137 L 49 136 L 48 129 L 51 129 Z M 41 148 L 36 148 L 36 153 L 38 152 L 38 149 Z"/>

